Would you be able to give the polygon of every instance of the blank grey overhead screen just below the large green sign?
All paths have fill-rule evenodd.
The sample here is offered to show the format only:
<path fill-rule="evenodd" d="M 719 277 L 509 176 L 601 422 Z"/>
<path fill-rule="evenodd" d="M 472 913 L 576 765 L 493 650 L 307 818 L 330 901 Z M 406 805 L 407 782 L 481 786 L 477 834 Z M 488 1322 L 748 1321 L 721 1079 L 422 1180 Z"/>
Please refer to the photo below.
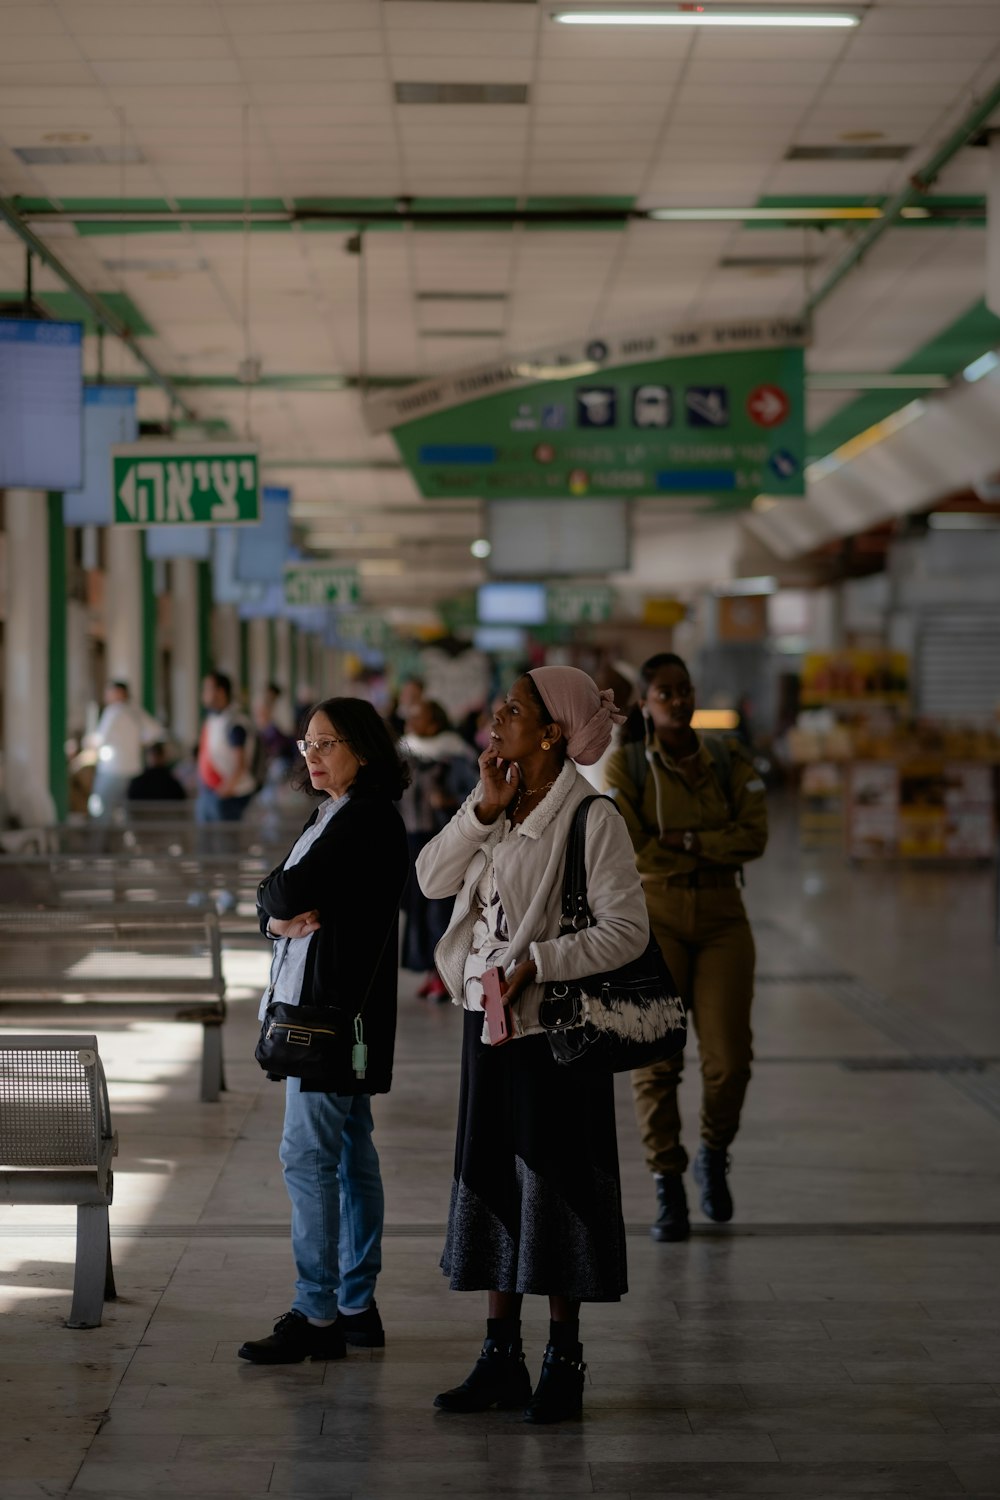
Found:
<path fill-rule="evenodd" d="M 624 500 L 498 500 L 486 506 L 498 578 L 580 578 L 628 570 Z"/>

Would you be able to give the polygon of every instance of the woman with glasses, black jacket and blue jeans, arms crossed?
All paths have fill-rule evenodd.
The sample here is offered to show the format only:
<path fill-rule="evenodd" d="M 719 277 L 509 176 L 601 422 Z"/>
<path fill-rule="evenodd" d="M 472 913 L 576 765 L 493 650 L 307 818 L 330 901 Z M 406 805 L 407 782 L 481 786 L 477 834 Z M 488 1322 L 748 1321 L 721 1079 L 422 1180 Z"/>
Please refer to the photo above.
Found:
<path fill-rule="evenodd" d="M 330 698 L 309 714 L 301 784 L 318 798 L 285 861 L 256 892 L 274 942 L 261 1004 L 324 1005 L 348 1022 L 361 996 L 367 1068 L 343 1064 L 319 1083 L 288 1078 L 280 1162 L 292 1204 L 295 1299 L 267 1338 L 240 1348 L 258 1365 L 342 1359 L 345 1344 L 382 1347 L 375 1305 L 382 1179 L 372 1094 L 388 1092 L 396 1038 L 399 903 L 409 870 L 394 806 L 409 772 L 370 704 Z"/>

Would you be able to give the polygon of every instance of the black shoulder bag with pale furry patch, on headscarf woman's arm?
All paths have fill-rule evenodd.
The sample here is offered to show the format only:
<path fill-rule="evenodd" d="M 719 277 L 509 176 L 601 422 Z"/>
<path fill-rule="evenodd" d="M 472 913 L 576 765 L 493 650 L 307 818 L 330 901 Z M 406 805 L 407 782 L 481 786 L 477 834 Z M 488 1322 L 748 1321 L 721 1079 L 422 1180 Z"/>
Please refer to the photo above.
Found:
<path fill-rule="evenodd" d="M 570 830 L 559 936 L 594 926 L 586 898 L 586 816 L 597 801 L 604 798 L 583 798 Z M 619 969 L 549 981 L 538 1020 L 555 1060 L 580 1072 L 648 1068 L 676 1058 L 687 1041 L 684 1002 L 652 932 L 645 952 Z"/>

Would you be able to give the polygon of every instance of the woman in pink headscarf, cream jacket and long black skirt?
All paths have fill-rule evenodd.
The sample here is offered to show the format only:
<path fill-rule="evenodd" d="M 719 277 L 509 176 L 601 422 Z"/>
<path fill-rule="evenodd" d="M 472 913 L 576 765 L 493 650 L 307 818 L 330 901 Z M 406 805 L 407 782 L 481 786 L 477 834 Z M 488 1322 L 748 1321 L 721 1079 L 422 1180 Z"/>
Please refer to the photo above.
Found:
<path fill-rule="evenodd" d="M 580 1414 L 580 1304 L 627 1292 L 612 1076 L 558 1066 L 538 1020 L 543 986 L 615 969 L 643 952 L 649 924 L 624 819 L 588 812 L 594 926 L 559 934 L 567 842 L 592 765 L 621 723 L 586 672 L 537 668 L 496 708 L 480 783 L 421 850 L 427 897 L 456 897 L 438 972 L 463 1006 L 462 1088 L 448 1233 L 456 1292 L 487 1292 L 486 1342 L 444 1412 L 523 1408 L 526 1422 Z M 507 975 L 511 1042 L 492 1046 L 483 975 Z M 549 1299 L 549 1341 L 532 1394 L 520 1338 L 525 1293 Z"/>

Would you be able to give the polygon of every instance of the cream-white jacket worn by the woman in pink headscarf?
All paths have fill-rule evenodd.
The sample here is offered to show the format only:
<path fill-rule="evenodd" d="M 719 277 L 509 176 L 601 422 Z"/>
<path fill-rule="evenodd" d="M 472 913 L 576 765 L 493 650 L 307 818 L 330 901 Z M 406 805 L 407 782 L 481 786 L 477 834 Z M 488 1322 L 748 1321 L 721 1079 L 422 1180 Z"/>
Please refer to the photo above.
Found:
<path fill-rule="evenodd" d="M 501 963 L 534 958 L 537 984 L 529 984 L 511 1006 L 514 1034 L 541 1030 L 538 1005 L 543 982 L 579 980 L 616 969 L 643 952 L 649 940 L 646 902 L 625 820 L 615 804 L 601 798 L 586 819 L 586 892 L 592 927 L 559 936 L 562 876 L 573 814 L 594 788 L 567 760 L 556 784 L 538 807 L 502 838 L 504 819 L 484 825 L 475 816 L 481 783 L 451 822 L 417 856 L 417 879 L 424 896 L 454 896 L 454 910 L 435 950 L 435 963 L 456 1005 L 463 1000 L 465 960 L 472 946 L 472 897 L 490 858 L 496 867 L 510 946 Z"/>

